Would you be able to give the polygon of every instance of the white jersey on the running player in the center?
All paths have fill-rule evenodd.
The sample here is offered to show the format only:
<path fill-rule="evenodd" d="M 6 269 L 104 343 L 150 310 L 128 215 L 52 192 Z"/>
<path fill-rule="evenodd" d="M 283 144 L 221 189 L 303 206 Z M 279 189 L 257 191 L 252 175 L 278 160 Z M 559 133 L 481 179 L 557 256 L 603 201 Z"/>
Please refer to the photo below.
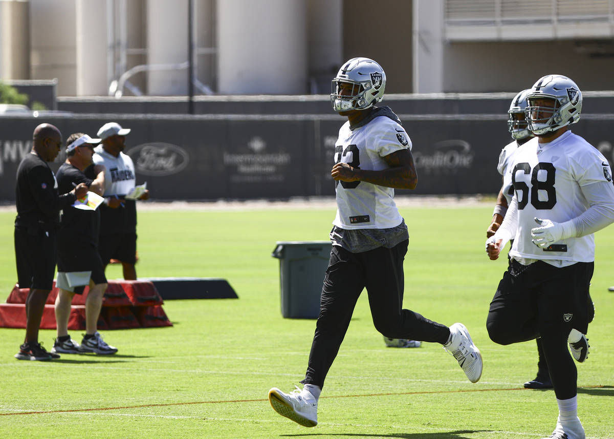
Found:
<path fill-rule="evenodd" d="M 409 136 L 402 125 L 389 117 L 375 117 L 353 131 L 346 122 L 335 143 L 335 163 L 379 171 L 389 167 L 382 157 L 406 148 L 411 149 Z M 335 226 L 342 229 L 388 229 L 403 221 L 394 202 L 394 189 L 366 181 L 335 183 Z"/>

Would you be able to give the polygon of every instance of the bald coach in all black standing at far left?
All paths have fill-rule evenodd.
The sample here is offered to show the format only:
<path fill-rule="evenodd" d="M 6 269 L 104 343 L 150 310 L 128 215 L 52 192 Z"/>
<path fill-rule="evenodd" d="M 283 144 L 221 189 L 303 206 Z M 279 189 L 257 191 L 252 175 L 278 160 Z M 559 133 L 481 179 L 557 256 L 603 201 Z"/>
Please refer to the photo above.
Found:
<path fill-rule="evenodd" d="M 55 175 L 47 162 L 60 152 L 62 135 L 51 124 L 34 129 L 32 151 L 17 168 L 15 200 L 15 261 L 20 288 L 29 288 L 26 299 L 26 336 L 18 360 L 50 360 L 52 355 L 39 344 L 38 332 L 47 296 L 53 287 L 56 261 L 56 229 L 60 209 L 87 194 L 79 184 L 68 194 L 58 196 Z M 59 357 L 59 355 L 54 357 Z"/>

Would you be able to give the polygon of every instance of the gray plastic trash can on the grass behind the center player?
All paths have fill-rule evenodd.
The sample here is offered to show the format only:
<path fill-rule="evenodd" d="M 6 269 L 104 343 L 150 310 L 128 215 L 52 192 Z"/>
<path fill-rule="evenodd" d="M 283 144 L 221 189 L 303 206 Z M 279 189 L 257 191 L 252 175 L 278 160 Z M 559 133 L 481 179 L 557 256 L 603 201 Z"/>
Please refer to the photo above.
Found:
<path fill-rule="evenodd" d="M 330 241 L 277 243 L 271 256 L 279 259 L 283 317 L 317 318 L 331 247 Z"/>

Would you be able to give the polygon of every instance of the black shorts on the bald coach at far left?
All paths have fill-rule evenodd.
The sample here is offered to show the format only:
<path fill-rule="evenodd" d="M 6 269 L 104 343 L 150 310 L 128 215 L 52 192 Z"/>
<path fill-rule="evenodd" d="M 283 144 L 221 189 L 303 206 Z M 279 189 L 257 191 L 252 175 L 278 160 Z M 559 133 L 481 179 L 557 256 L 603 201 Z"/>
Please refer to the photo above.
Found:
<path fill-rule="evenodd" d="M 15 262 L 20 288 L 51 290 L 57 256 L 55 230 L 15 226 Z"/>

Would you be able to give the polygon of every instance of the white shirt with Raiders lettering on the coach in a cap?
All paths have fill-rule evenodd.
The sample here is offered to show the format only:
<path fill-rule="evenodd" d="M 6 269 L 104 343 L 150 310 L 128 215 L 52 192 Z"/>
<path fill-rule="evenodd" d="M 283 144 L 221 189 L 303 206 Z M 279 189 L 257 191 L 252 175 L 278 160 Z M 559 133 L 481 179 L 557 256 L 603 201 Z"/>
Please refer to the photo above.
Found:
<path fill-rule="evenodd" d="M 134 164 L 128 154 L 119 153 L 119 157 L 104 151 L 102 145 L 94 149 L 96 154 L 92 159 L 96 165 L 104 165 L 104 196 L 112 197 L 124 196 L 136 185 L 136 175 L 134 174 Z"/>

